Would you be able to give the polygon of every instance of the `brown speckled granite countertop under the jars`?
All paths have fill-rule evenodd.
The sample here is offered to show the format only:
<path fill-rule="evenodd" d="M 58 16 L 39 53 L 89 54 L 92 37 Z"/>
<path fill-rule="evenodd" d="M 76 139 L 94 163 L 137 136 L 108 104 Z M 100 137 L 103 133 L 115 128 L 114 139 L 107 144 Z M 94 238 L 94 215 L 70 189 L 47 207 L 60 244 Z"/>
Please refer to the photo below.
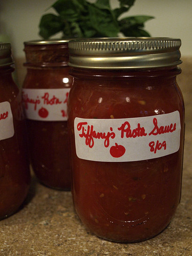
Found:
<path fill-rule="evenodd" d="M 183 58 L 178 84 L 186 111 L 182 197 L 169 226 L 153 239 L 112 243 L 84 228 L 73 209 L 70 192 L 39 184 L 33 176 L 27 201 L 0 222 L 0 256 L 15 255 L 192 255 L 192 58 Z"/>

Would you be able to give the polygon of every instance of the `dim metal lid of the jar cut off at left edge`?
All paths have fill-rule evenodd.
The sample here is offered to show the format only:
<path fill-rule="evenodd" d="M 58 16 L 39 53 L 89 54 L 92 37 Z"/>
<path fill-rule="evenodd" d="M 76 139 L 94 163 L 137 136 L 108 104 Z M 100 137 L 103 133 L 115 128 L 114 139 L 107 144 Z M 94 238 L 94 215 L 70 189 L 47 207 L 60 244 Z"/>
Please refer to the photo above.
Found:
<path fill-rule="evenodd" d="M 13 63 L 11 44 L 9 42 L 0 42 L 0 67 L 12 65 Z"/>

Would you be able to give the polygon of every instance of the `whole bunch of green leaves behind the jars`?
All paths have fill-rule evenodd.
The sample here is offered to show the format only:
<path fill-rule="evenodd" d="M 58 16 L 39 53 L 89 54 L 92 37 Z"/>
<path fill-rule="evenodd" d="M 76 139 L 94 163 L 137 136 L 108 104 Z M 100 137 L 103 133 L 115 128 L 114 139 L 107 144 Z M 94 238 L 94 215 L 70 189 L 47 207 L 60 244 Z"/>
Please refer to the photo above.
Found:
<path fill-rule="evenodd" d="M 39 35 L 49 39 L 58 32 L 63 37 L 116 37 L 150 36 L 144 28 L 153 16 L 137 15 L 120 18 L 129 11 L 135 0 L 118 0 L 119 8 L 112 9 L 110 0 L 58 0 L 50 8 L 58 15 L 49 13 L 40 19 Z"/>

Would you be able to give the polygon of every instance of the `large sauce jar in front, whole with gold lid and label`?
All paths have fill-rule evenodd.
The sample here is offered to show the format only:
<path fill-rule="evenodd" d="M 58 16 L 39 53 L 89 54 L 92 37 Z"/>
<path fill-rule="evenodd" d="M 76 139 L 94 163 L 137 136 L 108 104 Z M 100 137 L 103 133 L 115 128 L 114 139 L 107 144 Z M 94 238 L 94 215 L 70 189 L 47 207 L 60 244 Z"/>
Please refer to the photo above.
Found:
<path fill-rule="evenodd" d="M 73 200 L 98 237 L 138 242 L 172 220 L 181 194 L 180 39 L 69 42 Z"/>

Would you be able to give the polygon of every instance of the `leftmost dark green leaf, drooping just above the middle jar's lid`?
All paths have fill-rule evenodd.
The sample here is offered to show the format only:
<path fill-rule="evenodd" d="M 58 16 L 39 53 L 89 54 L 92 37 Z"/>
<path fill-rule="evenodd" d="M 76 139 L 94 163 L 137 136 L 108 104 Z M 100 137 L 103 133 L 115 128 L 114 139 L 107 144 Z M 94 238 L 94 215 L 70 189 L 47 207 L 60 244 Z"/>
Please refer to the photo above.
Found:
<path fill-rule="evenodd" d="M 48 39 L 62 29 L 60 18 L 51 13 L 45 14 L 41 17 L 39 28 L 39 35 L 44 39 Z"/>

